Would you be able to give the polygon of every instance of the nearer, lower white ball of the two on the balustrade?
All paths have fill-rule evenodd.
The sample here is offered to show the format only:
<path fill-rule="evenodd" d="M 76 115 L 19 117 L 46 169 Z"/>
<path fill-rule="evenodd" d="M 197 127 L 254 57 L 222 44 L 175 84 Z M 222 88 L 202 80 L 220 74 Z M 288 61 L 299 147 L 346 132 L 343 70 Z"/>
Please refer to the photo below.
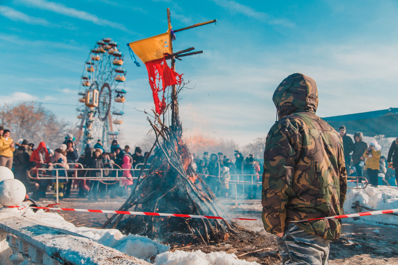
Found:
<path fill-rule="evenodd" d="M 19 205 L 26 195 L 25 185 L 18 179 L 4 179 L 0 182 L 0 204 L 3 206 Z"/>

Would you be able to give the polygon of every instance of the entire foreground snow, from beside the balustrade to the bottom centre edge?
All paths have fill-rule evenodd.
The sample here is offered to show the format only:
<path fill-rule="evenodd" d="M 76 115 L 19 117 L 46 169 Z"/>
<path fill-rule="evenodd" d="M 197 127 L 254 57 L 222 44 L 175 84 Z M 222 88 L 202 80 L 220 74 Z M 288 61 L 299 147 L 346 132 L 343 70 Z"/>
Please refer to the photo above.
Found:
<path fill-rule="evenodd" d="M 227 254 L 224 251 L 203 253 L 197 251 L 170 252 L 170 245 L 166 246 L 146 236 L 129 234 L 123 235 L 117 229 L 95 229 L 84 226 L 76 227 L 67 222 L 57 212 L 44 212 L 38 210 L 35 214 L 28 209 L 29 217 L 45 224 L 50 224 L 82 236 L 91 238 L 99 244 L 117 249 L 127 255 L 144 259 L 150 262 L 151 256 L 156 256 L 156 265 L 259 265 L 256 262 L 248 262 L 236 257 L 235 254 Z"/>

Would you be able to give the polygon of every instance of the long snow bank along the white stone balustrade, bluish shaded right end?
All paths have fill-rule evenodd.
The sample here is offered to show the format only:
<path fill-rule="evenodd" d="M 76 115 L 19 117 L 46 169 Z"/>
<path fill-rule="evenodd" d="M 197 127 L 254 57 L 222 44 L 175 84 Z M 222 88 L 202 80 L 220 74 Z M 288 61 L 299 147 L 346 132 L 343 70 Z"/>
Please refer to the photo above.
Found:
<path fill-rule="evenodd" d="M 57 212 L 43 212 L 43 210 L 38 210 L 34 218 L 37 221 L 86 236 L 99 244 L 112 247 L 127 255 L 146 261 L 149 261 L 151 256 L 156 256 L 170 250 L 170 245 L 160 244 L 146 236 L 133 234 L 125 236 L 117 229 L 76 227 L 72 223 L 67 222 Z"/>

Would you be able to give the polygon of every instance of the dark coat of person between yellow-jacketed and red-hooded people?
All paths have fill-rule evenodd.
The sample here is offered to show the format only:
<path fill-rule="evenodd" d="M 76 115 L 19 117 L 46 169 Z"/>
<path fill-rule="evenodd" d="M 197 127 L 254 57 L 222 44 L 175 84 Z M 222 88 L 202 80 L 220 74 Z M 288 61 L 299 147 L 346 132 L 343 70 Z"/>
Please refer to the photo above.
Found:
<path fill-rule="evenodd" d="M 32 150 L 29 147 L 22 146 L 14 152 L 14 176 L 15 179 L 18 179 L 25 185 L 26 193 L 37 190 L 35 186 L 36 181 L 28 175 L 30 168 L 36 166 L 35 162 L 29 161 L 31 154 Z M 31 173 L 31 176 L 33 176 L 33 173 Z"/>

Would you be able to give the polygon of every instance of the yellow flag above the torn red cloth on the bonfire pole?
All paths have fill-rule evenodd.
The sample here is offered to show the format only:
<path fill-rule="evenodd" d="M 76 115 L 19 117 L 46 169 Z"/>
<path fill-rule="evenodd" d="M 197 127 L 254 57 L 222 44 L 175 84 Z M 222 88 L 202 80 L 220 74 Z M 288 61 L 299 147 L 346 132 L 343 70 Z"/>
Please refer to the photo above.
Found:
<path fill-rule="evenodd" d="M 129 46 L 144 63 L 163 58 L 164 53 L 172 53 L 170 28 L 169 25 L 166 33 L 131 42 Z"/>

